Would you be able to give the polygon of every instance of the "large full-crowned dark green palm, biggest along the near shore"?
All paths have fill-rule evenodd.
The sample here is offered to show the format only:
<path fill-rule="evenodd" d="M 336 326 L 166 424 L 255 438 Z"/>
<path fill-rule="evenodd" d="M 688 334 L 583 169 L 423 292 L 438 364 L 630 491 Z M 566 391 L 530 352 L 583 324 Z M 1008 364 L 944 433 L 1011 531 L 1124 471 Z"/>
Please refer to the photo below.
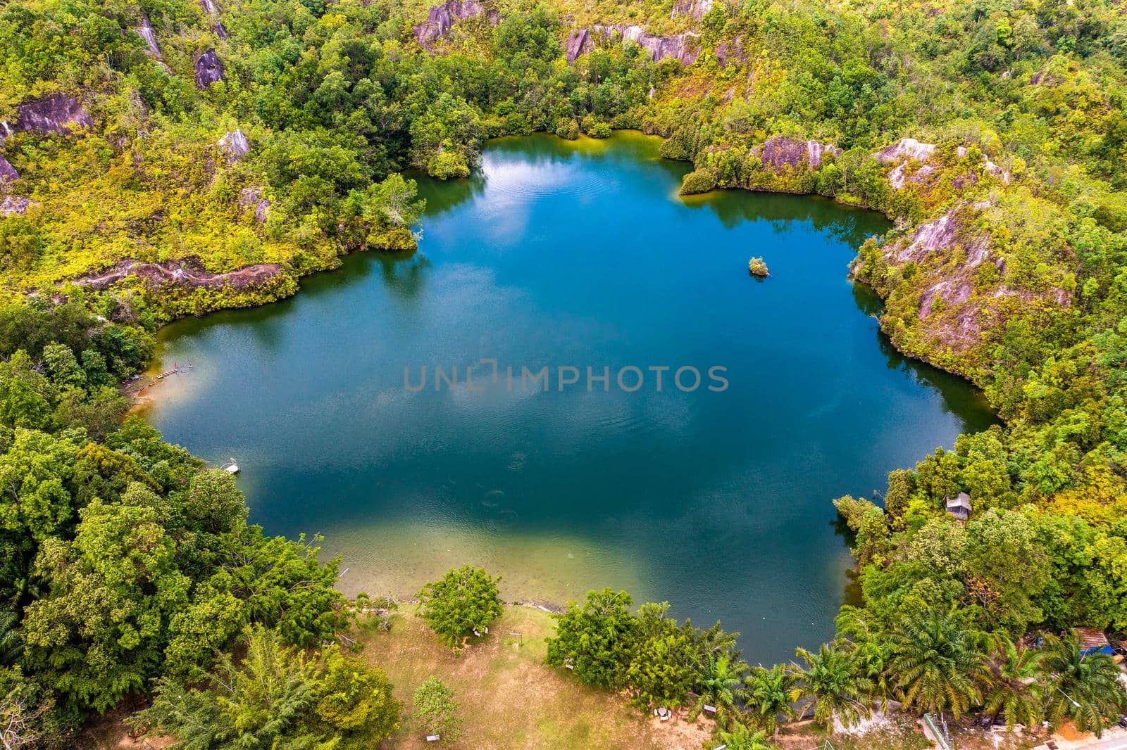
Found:
<path fill-rule="evenodd" d="M 955 609 L 904 617 L 891 634 L 888 662 L 904 705 L 958 718 L 978 703 L 978 682 L 987 676 L 980 640 Z"/>

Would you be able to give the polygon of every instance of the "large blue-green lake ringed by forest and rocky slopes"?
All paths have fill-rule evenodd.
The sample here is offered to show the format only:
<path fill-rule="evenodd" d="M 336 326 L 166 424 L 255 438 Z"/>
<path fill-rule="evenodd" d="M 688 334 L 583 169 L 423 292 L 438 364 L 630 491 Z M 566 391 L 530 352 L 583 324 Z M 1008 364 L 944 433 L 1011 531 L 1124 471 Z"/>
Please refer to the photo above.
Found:
<path fill-rule="evenodd" d="M 418 253 L 354 256 L 292 300 L 166 328 L 154 367 L 194 367 L 148 418 L 236 457 L 251 520 L 323 534 L 348 591 L 410 595 L 472 562 L 513 599 L 668 599 L 740 631 L 753 663 L 824 640 L 850 564 L 829 500 L 992 417 L 966 383 L 897 355 L 846 279 L 882 217 L 745 191 L 682 200 L 689 166 L 657 145 L 490 143 L 479 176 L 420 182 Z M 771 278 L 748 276 L 751 256 Z M 482 391 L 465 387 L 474 363 Z M 426 386 L 405 387 L 424 366 Z M 436 391 L 434 368 L 455 366 L 458 387 Z M 522 367 L 544 366 L 550 390 L 522 389 Z M 562 392 L 561 366 L 578 373 Z M 609 368 L 607 390 L 588 392 L 588 366 Z M 615 377 L 631 366 L 633 391 L 633 370 Z M 680 367 L 701 384 L 676 387 Z M 710 367 L 726 390 L 708 389 Z"/>

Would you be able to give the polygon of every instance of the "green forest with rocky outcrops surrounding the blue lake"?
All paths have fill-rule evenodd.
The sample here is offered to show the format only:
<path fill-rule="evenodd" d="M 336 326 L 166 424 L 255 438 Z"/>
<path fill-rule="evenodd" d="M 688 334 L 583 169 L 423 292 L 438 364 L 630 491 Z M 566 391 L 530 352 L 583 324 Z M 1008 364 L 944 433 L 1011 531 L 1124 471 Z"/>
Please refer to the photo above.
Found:
<path fill-rule="evenodd" d="M 370 748 L 401 700 L 316 538 L 124 418 L 154 331 L 410 250 L 411 173 L 490 137 L 659 134 L 682 193 L 818 194 L 895 226 L 850 273 L 900 351 L 1003 423 L 835 502 L 860 605 L 802 664 L 593 591 L 548 663 L 644 712 L 780 722 L 1127 711 L 1127 8 L 1118 0 L 10 0 L 0 8 L 0 724 L 62 747 L 123 702 L 183 748 Z M 966 493 L 967 519 L 947 511 Z M 831 498 L 826 498 L 829 502 Z M 496 581 L 419 596 L 462 648 Z M 265 687 L 264 687 L 265 686 Z M 441 684 L 416 703 L 443 721 Z M 435 720 L 438 721 L 438 720 Z M 10 738 L 10 739 L 9 739 Z"/>

